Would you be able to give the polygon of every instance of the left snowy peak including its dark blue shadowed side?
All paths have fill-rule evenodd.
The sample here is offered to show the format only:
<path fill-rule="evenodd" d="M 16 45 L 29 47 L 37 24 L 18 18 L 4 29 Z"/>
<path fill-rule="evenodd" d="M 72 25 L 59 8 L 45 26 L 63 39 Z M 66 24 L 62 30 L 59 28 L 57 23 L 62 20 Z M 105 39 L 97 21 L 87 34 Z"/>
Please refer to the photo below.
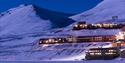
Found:
<path fill-rule="evenodd" d="M 68 14 L 39 9 L 34 5 L 20 5 L 1 13 L 0 16 L 0 36 L 37 33 L 73 22 L 66 18 Z M 63 25 L 64 23 L 66 25 Z"/>

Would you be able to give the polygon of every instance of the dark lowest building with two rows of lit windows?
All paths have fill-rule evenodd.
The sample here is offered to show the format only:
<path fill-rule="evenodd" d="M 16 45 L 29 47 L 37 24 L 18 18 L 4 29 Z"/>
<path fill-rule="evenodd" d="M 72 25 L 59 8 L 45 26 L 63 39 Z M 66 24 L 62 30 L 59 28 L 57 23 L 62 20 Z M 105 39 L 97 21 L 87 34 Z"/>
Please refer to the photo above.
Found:
<path fill-rule="evenodd" d="M 111 60 L 120 56 L 118 48 L 91 48 L 86 51 L 86 60 Z"/>

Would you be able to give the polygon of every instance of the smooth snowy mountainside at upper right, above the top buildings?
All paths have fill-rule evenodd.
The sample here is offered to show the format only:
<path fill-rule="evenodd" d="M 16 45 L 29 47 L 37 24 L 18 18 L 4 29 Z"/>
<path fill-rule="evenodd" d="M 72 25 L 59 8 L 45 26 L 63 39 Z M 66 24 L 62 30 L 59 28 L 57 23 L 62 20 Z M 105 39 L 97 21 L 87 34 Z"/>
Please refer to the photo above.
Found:
<path fill-rule="evenodd" d="M 103 0 L 96 7 L 71 16 L 70 18 L 76 21 L 95 23 L 109 20 L 112 16 L 118 16 L 119 19 L 125 19 L 125 0 Z"/>

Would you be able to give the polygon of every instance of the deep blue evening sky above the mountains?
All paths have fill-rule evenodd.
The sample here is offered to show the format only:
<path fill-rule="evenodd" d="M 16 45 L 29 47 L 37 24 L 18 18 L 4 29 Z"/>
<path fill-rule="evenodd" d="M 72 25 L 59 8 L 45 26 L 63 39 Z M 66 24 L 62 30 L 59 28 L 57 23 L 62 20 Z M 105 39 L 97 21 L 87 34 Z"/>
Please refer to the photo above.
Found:
<path fill-rule="evenodd" d="M 0 0 L 0 12 L 23 3 L 28 3 L 64 13 L 80 13 L 93 8 L 101 1 L 102 0 Z"/>

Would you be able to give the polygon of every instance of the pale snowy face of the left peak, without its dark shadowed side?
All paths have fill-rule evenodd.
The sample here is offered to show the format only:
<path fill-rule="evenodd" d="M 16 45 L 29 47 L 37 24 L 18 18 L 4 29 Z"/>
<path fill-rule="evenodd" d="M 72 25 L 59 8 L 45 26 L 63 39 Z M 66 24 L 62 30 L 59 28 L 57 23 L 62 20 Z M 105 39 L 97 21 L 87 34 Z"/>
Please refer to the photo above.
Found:
<path fill-rule="evenodd" d="M 0 36 L 40 32 L 51 29 L 52 23 L 37 16 L 32 5 L 12 9 L 0 18 Z"/>

